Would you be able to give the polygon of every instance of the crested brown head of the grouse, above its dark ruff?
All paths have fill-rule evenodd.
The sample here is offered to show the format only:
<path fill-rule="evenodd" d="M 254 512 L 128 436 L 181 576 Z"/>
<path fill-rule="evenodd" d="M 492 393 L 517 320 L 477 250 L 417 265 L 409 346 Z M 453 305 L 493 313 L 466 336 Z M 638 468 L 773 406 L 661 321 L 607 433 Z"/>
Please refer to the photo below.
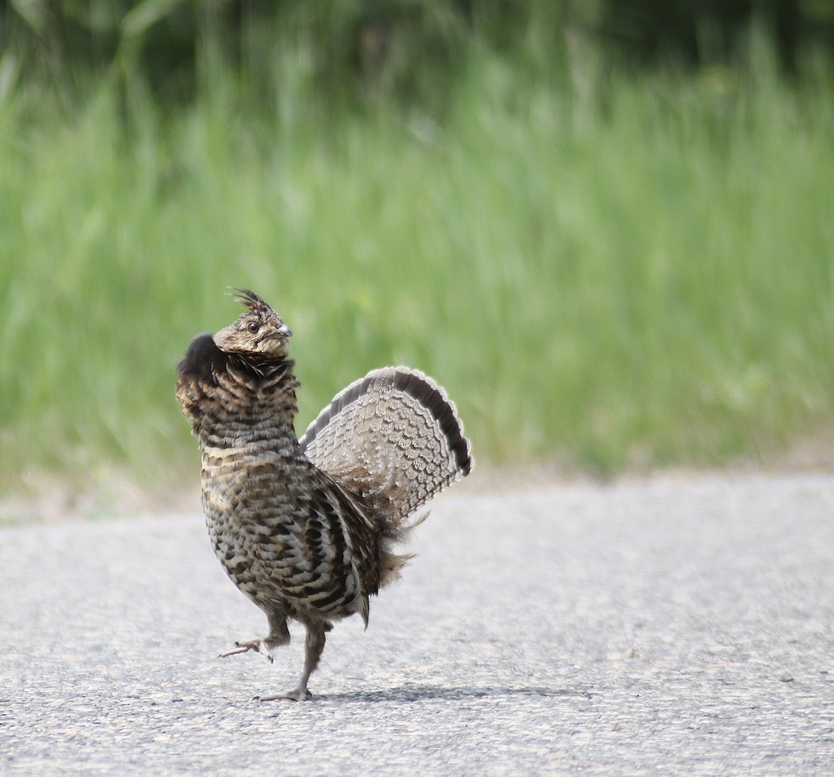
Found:
<path fill-rule="evenodd" d="M 256 293 L 246 288 L 234 291 L 246 310 L 237 321 L 214 335 L 214 344 L 225 353 L 239 353 L 256 360 L 286 358 L 290 328 Z"/>

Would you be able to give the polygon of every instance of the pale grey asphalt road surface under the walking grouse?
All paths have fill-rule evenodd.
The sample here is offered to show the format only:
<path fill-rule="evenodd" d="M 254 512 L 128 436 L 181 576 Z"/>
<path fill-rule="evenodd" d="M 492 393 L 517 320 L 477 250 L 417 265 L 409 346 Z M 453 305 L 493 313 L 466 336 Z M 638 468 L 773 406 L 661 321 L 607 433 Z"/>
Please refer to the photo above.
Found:
<path fill-rule="evenodd" d="M 0 529 L 2 774 L 829 774 L 834 478 L 453 491 L 299 674 L 194 514 Z M 302 632 L 294 630 L 295 636 Z"/>

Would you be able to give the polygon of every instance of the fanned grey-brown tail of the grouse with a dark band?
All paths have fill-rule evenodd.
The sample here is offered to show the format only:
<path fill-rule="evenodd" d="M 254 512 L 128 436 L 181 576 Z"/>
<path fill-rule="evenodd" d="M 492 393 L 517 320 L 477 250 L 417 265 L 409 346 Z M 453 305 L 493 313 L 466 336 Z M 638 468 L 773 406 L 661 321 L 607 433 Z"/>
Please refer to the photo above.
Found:
<path fill-rule="evenodd" d="M 360 494 L 392 536 L 473 466 L 455 404 L 434 380 L 405 367 L 375 369 L 351 383 L 300 444 L 313 464 Z"/>

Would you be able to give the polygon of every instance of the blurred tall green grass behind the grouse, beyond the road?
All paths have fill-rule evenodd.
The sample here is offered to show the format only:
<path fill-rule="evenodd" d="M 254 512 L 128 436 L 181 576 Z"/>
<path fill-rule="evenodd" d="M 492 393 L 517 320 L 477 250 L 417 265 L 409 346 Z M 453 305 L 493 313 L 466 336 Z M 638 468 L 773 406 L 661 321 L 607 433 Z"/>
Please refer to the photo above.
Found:
<path fill-rule="evenodd" d="M 510 40 L 460 3 L 45 5 L 0 9 L 0 496 L 192 482 L 174 368 L 229 286 L 294 330 L 299 434 L 388 363 L 487 466 L 766 463 L 831 428 L 818 41 L 760 15 L 629 58 L 605 3 L 516 3 Z"/>

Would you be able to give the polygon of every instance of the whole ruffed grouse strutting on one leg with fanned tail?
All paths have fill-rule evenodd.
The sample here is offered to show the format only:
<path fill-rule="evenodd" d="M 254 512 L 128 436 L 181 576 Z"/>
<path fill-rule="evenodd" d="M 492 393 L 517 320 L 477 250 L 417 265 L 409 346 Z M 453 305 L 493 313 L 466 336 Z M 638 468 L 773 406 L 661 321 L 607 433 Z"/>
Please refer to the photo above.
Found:
<path fill-rule="evenodd" d="M 469 474 L 469 441 L 455 405 L 431 378 L 376 369 L 337 394 L 299 440 L 289 327 L 245 289 L 246 310 L 194 338 L 178 364 L 177 398 L 203 454 L 203 511 L 232 582 L 264 610 L 265 639 L 221 654 L 270 651 L 304 624 L 297 688 L 270 699 L 309 699 L 324 634 L 359 613 L 411 558 L 395 545 L 409 516 Z"/>

